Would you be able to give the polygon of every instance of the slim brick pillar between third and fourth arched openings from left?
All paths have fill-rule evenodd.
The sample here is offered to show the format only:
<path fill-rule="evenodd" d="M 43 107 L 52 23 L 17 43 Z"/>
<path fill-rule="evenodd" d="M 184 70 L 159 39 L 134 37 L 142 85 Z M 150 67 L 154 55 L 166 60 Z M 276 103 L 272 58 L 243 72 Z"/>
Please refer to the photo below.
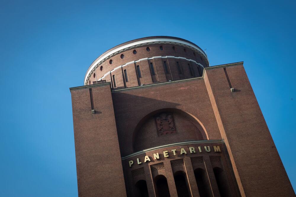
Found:
<path fill-rule="evenodd" d="M 193 197 L 200 197 L 190 157 L 184 157 L 184 164 L 191 194 Z"/>

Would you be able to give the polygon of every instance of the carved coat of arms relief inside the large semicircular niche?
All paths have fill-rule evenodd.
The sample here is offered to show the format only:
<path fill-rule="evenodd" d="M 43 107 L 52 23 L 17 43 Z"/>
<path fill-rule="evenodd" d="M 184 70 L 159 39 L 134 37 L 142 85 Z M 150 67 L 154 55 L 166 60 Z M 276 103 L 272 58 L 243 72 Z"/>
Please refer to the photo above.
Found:
<path fill-rule="evenodd" d="M 155 116 L 158 136 L 176 132 L 173 114 L 162 113 Z"/>

